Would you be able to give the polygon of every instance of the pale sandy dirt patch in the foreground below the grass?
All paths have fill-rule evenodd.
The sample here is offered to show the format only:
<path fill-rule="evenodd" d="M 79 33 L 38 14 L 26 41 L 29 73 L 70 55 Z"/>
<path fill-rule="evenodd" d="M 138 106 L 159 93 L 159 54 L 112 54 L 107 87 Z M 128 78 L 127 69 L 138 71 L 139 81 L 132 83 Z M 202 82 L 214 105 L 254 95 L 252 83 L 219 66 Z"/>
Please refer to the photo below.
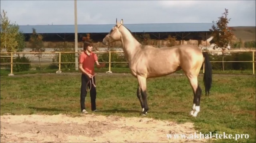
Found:
<path fill-rule="evenodd" d="M 194 134 L 193 123 L 177 124 L 151 118 L 82 115 L 3 115 L 1 142 L 205 142 L 167 138 L 167 134 Z"/>

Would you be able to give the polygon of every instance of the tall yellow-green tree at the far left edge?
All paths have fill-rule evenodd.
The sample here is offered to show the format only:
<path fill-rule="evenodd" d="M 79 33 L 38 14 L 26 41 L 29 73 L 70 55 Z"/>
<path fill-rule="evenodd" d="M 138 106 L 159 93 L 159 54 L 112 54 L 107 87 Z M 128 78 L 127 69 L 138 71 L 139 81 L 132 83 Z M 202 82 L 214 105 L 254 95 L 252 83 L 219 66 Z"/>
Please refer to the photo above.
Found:
<path fill-rule="evenodd" d="M 20 52 L 26 47 L 25 37 L 22 32 L 19 31 L 19 25 L 16 23 L 10 24 L 10 20 L 7 17 L 7 12 L 2 10 L 1 13 L 1 50 L 5 49 L 7 52 Z"/>

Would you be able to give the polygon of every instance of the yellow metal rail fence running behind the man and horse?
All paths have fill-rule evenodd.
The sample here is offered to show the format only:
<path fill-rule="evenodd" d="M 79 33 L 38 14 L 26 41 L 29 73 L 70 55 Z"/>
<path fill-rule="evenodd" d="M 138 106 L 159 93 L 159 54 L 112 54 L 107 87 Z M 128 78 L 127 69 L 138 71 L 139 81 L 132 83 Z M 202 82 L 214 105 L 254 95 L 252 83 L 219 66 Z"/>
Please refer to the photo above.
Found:
<path fill-rule="evenodd" d="M 253 69 L 253 74 L 255 74 L 255 59 L 254 59 L 254 50 L 246 50 L 246 51 L 203 51 L 203 52 L 208 52 L 208 53 L 217 53 L 217 52 L 222 52 L 222 53 L 233 53 L 233 52 L 251 52 L 252 53 L 252 60 L 251 61 L 211 61 L 211 62 L 251 62 L 252 63 L 252 69 Z M 58 64 L 59 67 L 59 71 L 61 71 L 61 64 L 64 63 L 75 63 L 75 62 L 61 62 L 61 55 L 62 54 L 67 54 L 67 53 L 81 53 L 81 52 L 1 52 L 1 58 L 2 57 L 10 57 L 10 62 L 1 62 L 0 65 L 11 65 L 10 69 L 11 69 L 11 74 L 13 74 L 13 65 L 14 64 Z M 109 71 L 107 72 L 112 72 L 111 71 L 111 63 L 128 63 L 128 62 L 111 62 L 111 53 L 124 53 L 123 51 L 96 51 L 94 53 L 108 53 L 109 54 L 109 61 L 105 62 L 105 63 L 109 63 Z M 3 55 L 5 54 L 5 55 Z M 7 54 L 7 55 L 6 55 Z M 26 56 L 26 57 L 37 57 L 35 54 L 58 54 L 59 59 L 58 62 L 31 62 L 31 63 L 17 63 L 17 62 L 13 62 L 13 59 L 15 57 L 17 57 L 17 55 L 19 54 L 34 54 L 33 56 Z M 219 55 L 221 56 L 221 55 Z M 41 56 L 41 57 L 45 57 L 45 56 Z M 55 56 L 47 56 L 47 57 L 55 57 Z M 99 62 L 102 63 L 102 62 Z M 204 64 L 203 64 L 204 67 Z M 204 73 L 204 68 L 203 68 L 203 73 Z"/>

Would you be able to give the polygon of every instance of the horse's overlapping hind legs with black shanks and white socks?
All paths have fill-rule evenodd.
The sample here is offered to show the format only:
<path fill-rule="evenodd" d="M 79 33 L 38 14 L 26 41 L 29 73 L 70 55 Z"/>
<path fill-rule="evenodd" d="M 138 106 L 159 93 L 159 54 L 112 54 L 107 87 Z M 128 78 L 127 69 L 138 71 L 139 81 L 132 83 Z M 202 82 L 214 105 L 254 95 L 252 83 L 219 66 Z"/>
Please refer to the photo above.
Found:
<path fill-rule="evenodd" d="M 190 114 L 196 117 L 197 113 L 199 113 L 200 111 L 200 99 L 201 99 L 202 90 L 198 84 L 197 76 L 187 75 L 187 78 L 189 79 L 189 83 L 194 92 L 193 106 Z"/>

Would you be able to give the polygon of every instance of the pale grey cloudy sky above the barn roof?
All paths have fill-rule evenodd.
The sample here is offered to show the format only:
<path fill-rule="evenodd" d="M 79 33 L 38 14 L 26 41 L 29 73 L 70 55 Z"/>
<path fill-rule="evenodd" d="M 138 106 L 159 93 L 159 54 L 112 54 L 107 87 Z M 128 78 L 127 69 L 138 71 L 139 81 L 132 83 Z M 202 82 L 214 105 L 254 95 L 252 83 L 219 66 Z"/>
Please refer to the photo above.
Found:
<path fill-rule="evenodd" d="M 19 25 L 74 24 L 74 0 L 1 0 Z M 77 0 L 78 24 L 200 23 L 218 20 L 229 10 L 229 26 L 256 26 L 255 0 Z"/>

